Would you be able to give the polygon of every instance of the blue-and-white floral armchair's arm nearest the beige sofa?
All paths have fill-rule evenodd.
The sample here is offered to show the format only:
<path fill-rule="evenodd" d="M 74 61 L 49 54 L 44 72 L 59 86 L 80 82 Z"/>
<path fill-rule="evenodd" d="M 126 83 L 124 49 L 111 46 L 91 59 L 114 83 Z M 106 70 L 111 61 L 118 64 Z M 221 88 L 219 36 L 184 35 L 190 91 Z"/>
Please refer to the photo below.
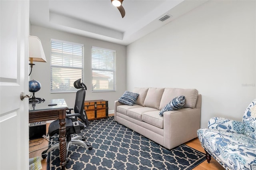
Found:
<path fill-rule="evenodd" d="M 208 122 L 208 128 L 226 132 L 244 134 L 244 123 L 221 117 L 212 117 Z"/>

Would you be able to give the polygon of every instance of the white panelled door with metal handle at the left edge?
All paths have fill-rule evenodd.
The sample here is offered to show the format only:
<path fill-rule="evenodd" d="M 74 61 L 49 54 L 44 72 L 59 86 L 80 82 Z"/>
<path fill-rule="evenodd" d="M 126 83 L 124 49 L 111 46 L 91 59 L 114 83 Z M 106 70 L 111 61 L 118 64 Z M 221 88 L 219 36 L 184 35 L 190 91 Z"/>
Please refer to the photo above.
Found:
<path fill-rule="evenodd" d="M 28 170 L 29 1 L 0 0 L 0 170 Z"/>

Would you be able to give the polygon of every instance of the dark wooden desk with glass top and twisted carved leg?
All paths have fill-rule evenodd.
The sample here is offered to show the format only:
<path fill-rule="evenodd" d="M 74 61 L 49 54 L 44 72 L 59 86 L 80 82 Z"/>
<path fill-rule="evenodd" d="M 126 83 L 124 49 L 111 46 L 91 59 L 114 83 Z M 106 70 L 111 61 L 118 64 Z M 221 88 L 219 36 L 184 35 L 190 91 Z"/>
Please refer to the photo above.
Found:
<path fill-rule="evenodd" d="M 48 106 L 56 103 L 56 106 Z M 29 104 L 29 123 L 50 121 L 59 119 L 60 121 L 60 166 L 65 169 L 66 165 L 66 110 L 68 106 L 64 99 L 46 100 L 41 103 Z"/>

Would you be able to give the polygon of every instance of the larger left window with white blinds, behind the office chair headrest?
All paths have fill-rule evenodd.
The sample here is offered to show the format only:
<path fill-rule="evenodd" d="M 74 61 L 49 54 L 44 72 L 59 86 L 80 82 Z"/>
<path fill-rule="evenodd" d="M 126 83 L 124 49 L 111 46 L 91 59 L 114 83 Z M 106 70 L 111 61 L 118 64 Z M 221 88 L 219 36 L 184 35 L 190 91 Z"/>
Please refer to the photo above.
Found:
<path fill-rule="evenodd" d="M 74 81 L 84 75 L 84 45 L 51 40 L 51 92 L 76 92 Z"/>

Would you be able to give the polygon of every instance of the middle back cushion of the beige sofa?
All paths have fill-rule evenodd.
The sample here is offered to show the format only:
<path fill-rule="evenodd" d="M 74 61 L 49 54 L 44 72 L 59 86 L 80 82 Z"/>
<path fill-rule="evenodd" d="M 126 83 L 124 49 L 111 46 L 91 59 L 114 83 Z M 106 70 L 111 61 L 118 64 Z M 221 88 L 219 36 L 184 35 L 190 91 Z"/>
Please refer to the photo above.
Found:
<path fill-rule="evenodd" d="M 148 93 L 144 101 L 144 106 L 159 109 L 159 105 L 160 105 L 160 101 L 163 93 L 164 93 L 164 88 L 153 88 L 153 87 L 148 88 Z"/>

